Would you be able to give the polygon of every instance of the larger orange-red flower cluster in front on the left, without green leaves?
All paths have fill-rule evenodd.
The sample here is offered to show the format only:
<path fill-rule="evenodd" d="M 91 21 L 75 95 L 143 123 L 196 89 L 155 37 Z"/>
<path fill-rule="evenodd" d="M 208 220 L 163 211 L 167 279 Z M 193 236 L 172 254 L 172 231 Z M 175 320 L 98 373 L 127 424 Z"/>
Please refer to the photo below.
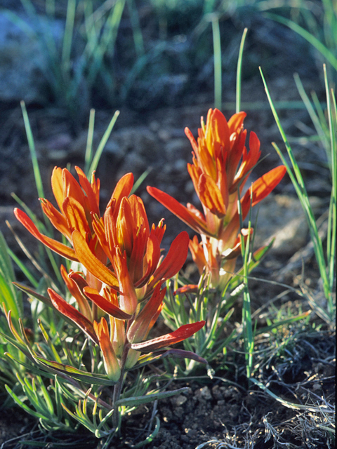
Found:
<path fill-rule="evenodd" d="M 15 216 L 48 248 L 84 267 L 84 272 L 69 273 L 61 267 L 78 309 L 51 288 L 48 295 L 55 309 L 100 345 L 107 375 L 117 382 L 124 369 L 138 361 L 140 352 L 185 340 L 204 326 L 200 321 L 143 341 L 163 307 L 162 284 L 185 263 L 189 237 L 186 232 L 178 234 L 163 259 L 160 245 L 166 226 L 163 220 L 157 227 L 149 226 L 143 201 L 130 196 L 132 173 L 119 180 L 101 217 L 99 180 L 93 175 L 89 182 L 80 168 L 76 171 L 79 182 L 66 169 L 53 170 L 51 185 L 60 210 L 41 199 L 44 213 L 72 247 L 41 234 L 22 210 L 15 209 Z"/>

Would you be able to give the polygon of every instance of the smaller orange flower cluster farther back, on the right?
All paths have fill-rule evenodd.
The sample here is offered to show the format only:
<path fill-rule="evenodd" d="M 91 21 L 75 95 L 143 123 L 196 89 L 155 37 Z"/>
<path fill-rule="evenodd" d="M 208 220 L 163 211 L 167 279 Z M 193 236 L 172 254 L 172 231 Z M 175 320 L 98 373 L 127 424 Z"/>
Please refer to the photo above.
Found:
<path fill-rule="evenodd" d="M 260 157 L 256 133 L 250 134 L 249 151 L 246 149 L 245 117 L 245 112 L 239 112 L 227 121 L 218 109 L 209 109 L 206 124 L 201 117 L 197 142 L 185 128 L 193 148 L 193 163 L 187 164 L 187 170 L 204 214 L 190 203 L 185 207 L 165 192 L 147 187 L 155 199 L 201 235 L 201 242 L 197 236 L 190 241 L 190 251 L 200 274 L 206 270 L 211 276 L 213 288 L 225 287 L 241 253 L 238 196 L 244 220 L 249 208 L 270 194 L 286 173 L 284 166 L 274 168 L 243 194 Z M 241 229 L 241 233 L 244 238 L 248 236 L 247 229 Z"/>

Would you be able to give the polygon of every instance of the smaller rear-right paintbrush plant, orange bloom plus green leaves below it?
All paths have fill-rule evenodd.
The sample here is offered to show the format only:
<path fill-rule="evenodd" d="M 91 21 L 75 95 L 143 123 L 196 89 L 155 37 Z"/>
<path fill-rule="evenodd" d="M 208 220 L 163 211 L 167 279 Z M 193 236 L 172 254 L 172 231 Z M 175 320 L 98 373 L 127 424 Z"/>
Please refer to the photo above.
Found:
<path fill-rule="evenodd" d="M 207 361 L 216 357 L 228 342 L 224 338 L 218 342 L 232 313 L 229 309 L 235 297 L 226 295 L 226 291 L 233 292 L 240 285 L 244 286 L 243 269 L 234 273 L 237 257 L 244 254 L 247 243 L 249 247 L 253 228 L 250 224 L 244 228 L 243 221 L 251 208 L 270 194 L 286 173 L 283 165 L 274 168 L 244 192 L 251 170 L 260 158 L 260 141 L 256 133 L 251 132 L 249 150 L 246 148 L 245 117 L 245 112 L 239 112 L 227 121 L 218 109 L 209 109 L 206 123 L 201 117 L 197 142 L 191 131 L 185 128 L 193 149 L 192 164 L 187 163 L 187 170 L 203 213 L 190 203 L 185 207 L 169 194 L 147 187 L 147 192 L 201 236 L 201 241 L 194 236 L 189 243 L 201 276 L 199 286 L 178 288 L 175 297 L 169 293 L 163 312 L 166 323 L 173 329 L 196 316 L 206 321 L 206 327 L 194 340 L 194 346 L 190 343 L 187 346 Z M 248 271 L 258 264 L 267 249 L 267 246 L 260 248 L 247 260 Z M 191 295 L 195 293 L 195 300 L 192 300 Z M 182 294 L 187 296 L 190 304 L 188 314 L 180 307 L 179 295 Z M 222 321 L 220 326 L 219 321 Z M 192 361 L 187 373 L 193 366 Z"/>

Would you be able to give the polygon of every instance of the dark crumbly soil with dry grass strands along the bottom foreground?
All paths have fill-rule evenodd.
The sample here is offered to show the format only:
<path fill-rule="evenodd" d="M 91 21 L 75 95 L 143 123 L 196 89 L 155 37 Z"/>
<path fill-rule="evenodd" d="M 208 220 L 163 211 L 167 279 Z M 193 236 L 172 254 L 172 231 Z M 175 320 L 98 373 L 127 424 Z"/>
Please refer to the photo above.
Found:
<path fill-rule="evenodd" d="M 173 380 L 169 389 L 187 386 L 187 391 L 155 406 L 140 406 L 124 417 L 121 438 L 116 438 L 109 447 L 133 448 L 146 438 L 149 422 L 151 428 L 157 415 L 160 429 L 147 445 L 150 449 L 194 449 L 207 442 L 203 447 L 333 448 L 331 435 L 321 427 L 333 422 L 335 335 L 303 329 L 288 337 L 283 355 L 272 356 L 265 366 L 258 368 L 255 377 L 280 400 L 305 405 L 305 410 L 293 410 L 253 384 L 249 386 L 242 372 L 242 356 L 234 351 L 224 363 L 225 370 L 218 368 L 213 380 L 207 376 Z M 257 349 L 263 349 L 265 344 L 260 342 Z M 317 413 L 318 406 L 322 415 Z M 50 449 L 69 445 L 101 447 L 95 438 L 86 432 L 81 435 L 81 431 L 77 431 L 76 437 L 44 436 L 34 420 L 20 410 L 7 410 L 1 418 L 1 449 L 39 447 L 42 442 Z"/>

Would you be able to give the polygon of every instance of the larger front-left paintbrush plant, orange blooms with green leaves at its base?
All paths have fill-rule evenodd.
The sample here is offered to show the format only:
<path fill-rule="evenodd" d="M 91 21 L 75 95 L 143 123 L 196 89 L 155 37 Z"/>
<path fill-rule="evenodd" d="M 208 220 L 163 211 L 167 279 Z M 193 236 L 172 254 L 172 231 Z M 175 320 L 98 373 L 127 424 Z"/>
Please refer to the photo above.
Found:
<path fill-rule="evenodd" d="M 70 335 L 64 340 L 64 336 L 59 335 L 60 322 L 56 324 L 56 333 L 50 337 L 39 319 L 39 327 L 48 344 L 48 349 L 44 349 L 43 345 L 31 341 L 29 336 L 32 333 L 24 328 L 21 319 L 13 322 L 11 311 L 7 311 L 5 306 L 4 312 L 13 337 L 3 333 L 1 335 L 25 355 L 23 366 L 32 367 L 33 373 L 54 377 L 51 385 L 59 390 L 55 393 L 58 408 L 67 410 L 75 419 L 94 431 L 96 436 L 111 436 L 120 428 L 121 408 L 125 412 L 130 406 L 155 401 L 181 391 L 143 394 L 142 388 L 136 385 L 133 391 L 140 391 L 141 394 L 132 396 L 128 392 L 125 396 L 123 387 L 128 371 L 165 356 L 191 357 L 206 363 L 203 358 L 191 352 L 166 349 L 194 335 L 205 322 L 188 323 L 172 333 L 147 340 L 163 307 L 166 293 L 163 284 L 176 275 L 185 263 L 188 234 L 178 234 L 166 257 L 161 257 L 160 245 L 166 225 L 161 220 L 157 227 L 149 226 L 143 201 L 134 194 L 130 196 L 133 175 L 128 173 L 119 180 L 101 217 L 99 180 L 93 174 L 89 182 L 80 168 L 76 167 L 76 170 L 79 182 L 67 169 L 53 170 L 51 185 L 59 210 L 50 201 L 41 199 L 46 217 L 70 246 L 42 234 L 27 213 L 15 209 L 15 216 L 35 238 L 71 261 L 67 264 L 74 269 L 67 269 L 64 265 L 60 267 L 67 293 L 62 295 L 55 288 L 48 287 L 48 295 L 41 295 L 20 284 L 17 286 L 30 297 L 41 300 L 58 312 L 68 323 L 74 323 L 86 339 L 75 333 L 74 340 Z M 75 343 L 77 339 L 82 342 L 83 347 L 75 356 L 71 347 L 78 344 Z M 65 352 L 67 363 L 55 349 L 54 342 L 57 340 Z M 89 349 L 88 360 L 84 356 L 85 347 Z M 8 358 L 11 358 L 9 354 Z M 13 361 L 13 357 L 11 360 Z M 141 377 L 138 377 L 138 381 L 144 382 Z M 75 414 L 62 398 L 67 388 L 64 384 L 77 391 L 77 398 L 76 394 L 69 390 L 67 392 L 67 396 L 70 395 L 74 400 L 72 408 L 78 398 L 84 398 L 83 408 L 81 409 L 80 401 L 79 406 L 75 407 Z M 91 384 L 91 387 L 88 388 L 87 384 Z M 27 382 L 23 386 L 24 390 L 25 387 L 27 389 Z M 109 403 L 100 398 L 104 386 L 111 386 L 113 389 Z M 34 390 L 34 386 L 32 389 Z M 15 392 L 9 387 L 7 390 L 22 405 Z M 48 396 L 47 393 L 46 395 Z M 97 407 L 105 409 L 105 417 L 100 410 L 99 424 L 95 419 L 93 422 L 88 419 L 87 401 L 91 401 L 93 410 Z M 53 415 L 53 406 L 48 402 L 49 415 Z M 44 422 L 41 410 L 40 413 L 32 414 L 39 415 L 42 423 Z M 107 430 L 107 416 L 111 415 L 113 426 Z M 49 421 L 53 421 L 53 418 Z M 100 430 L 102 423 L 105 424 L 105 433 Z M 53 426 L 51 423 L 44 423 L 44 427 L 50 429 Z"/>

